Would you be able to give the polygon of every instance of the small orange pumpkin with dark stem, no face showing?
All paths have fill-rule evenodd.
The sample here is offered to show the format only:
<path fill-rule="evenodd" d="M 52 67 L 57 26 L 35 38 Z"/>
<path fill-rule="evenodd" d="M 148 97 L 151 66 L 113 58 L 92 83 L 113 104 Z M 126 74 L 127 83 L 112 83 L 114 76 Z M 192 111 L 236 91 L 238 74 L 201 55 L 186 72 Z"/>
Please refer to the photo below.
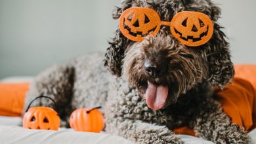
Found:
<path fill-rule="evenodd" d="M 76 109 L 70 116 L 70 127 L 74 128 L 75 131 L 102 131 L 104 128 L 104 118 L 98 108 L 100 107 L 93 109 Z"/>

